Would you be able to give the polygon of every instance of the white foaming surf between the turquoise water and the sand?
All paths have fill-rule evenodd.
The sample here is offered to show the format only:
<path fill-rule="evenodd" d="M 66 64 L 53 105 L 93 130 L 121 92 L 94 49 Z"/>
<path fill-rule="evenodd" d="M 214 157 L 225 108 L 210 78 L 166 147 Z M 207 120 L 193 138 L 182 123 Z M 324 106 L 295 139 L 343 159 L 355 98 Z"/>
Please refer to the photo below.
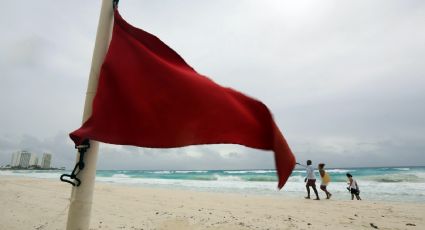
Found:
<path fill-rule="evenodd" d="M 198 180 L 185 178 L 170 178 L 168 175 L 174 175 L 168 171 L 152 171 L 152 174 L 145 174 L 147 177 L 132 177 L 132 174 L 126 174 L 117 170 L 111 171 L 102 175 L 102 172 L 98 172 L 96 177 L 96 183 L 105 183 L 112 186 L 125 186 L 129 188 L 153 188 L 153 189 L 168 189 L 168 190 L 180 190 L 180 191 L 197 191 L 197 192 L 212 192 L 212 193 L 224 193 L 224 194 L 236 194 L 236 195 L 259 195 L 259 196 L 272 196 L 277 198 L 288 197 L 292 199 L 303 198 L 306 195 L 304 182 L 301 180 L 299 175 L 292 177 L 285 185 L 285 187 L 279 191 L 276 188 L 276 182 L 274 181 L 246 181 L 236 174 L 224 174 L 220 175 L 224 180 Z M 4 171 L 3 171 L 4 172 Z M 150 172 L 150 170 L 148 171 Z M 206 171 L 205 171 L 206 172 Z M 178 173 L 178 172 L 176 172 Z M 197 173 L 192 176 L 199 175 Z M 224 172 L 225 173 L 225 172 Z M 414 172 L 416 173 L 416 172 Z M 0 174 L 2 176 L 10 177 L 28 177 L 28 178 L 43 178 L 51 179 L 55 182 L 60 182 L 59 177 L 62 171 L 10 171 L 10 173 Z M 113 176 L 111 176 L 113 175 Z M 149 178 L 150 175 L 161 175 Z M 165 175 L 164 178 L 161 178 Z M 180 175 L 190 175 L 184 171 Z M 210 173 L 210 177 L 216 177 L 216 174 Z M 244 174 L 242 174 L 244 175 Z M 256 174 L 254 174 L 256 175 Z M 230 177 L 230 180 L 226 178 Z M 384 175 L 387 176 L 387 175 Z M 241 176 L 242 177 L 242 176 Z M 236 179 L 238 180 L 236 180 Z M 397 178 L 396 178 L 397 179 Z M 363 181 L 361 182 L 361 197 L 365 201 L 372 202 L 390 202 L 390 203 L 422 203 L 425 204 L 425 197 L 423 193 L 424 183 L 411 183 L 411 182 L 374 182 L 374 181 Z M 62 182 L 60 182 L 62 183 Z M 319 182 L 320 183 L 320 182 Z M 324 198 L 325 194 L 319 189 L 319 184 L 316 184 L 319 196 Z M 346 190 L 346 182 L 334 181 L 328 186 L 329 191 L 333 194 L 332 200 L 346 201 L 350 200 L 351 196 Z M 410 194 L 410 195 L 409 195 Z"/>

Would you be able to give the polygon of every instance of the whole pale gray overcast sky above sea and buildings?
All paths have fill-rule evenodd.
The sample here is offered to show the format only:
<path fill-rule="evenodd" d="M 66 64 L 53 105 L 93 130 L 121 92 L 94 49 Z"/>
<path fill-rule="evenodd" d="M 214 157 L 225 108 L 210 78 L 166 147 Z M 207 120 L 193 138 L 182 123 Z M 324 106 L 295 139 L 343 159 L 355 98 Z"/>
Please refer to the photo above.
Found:
<path fill-rule="evenodd" d="M 2 2 L 0 165 L 71 168 L 101 1 Z M 120 1 L 194 69 L 264 102 L 300 162 L 425 165 L 425 1 Z M 98 169 L 273 168 L 236 145 L 101 145 Z"/>

